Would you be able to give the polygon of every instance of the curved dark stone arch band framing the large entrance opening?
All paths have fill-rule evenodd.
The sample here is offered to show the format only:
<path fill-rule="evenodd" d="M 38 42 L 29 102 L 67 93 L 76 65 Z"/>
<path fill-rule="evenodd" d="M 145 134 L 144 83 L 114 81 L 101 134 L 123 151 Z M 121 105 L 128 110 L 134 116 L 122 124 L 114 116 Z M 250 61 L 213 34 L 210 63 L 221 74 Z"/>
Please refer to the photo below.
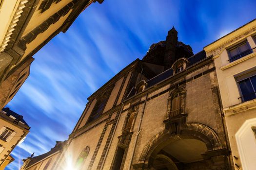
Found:
<path fill-rule="evenodd" d="M 207 151 L 223 149 L 216 132 L 210 127 L 200 123 L 182 123 L 176 134 L 165 129 L 152 137 L 144 147 L 136 165 L 140 165 L 141 168 L 149 168 L 163 146 L 181 139 L 200 140 L 205 143 Z"/>

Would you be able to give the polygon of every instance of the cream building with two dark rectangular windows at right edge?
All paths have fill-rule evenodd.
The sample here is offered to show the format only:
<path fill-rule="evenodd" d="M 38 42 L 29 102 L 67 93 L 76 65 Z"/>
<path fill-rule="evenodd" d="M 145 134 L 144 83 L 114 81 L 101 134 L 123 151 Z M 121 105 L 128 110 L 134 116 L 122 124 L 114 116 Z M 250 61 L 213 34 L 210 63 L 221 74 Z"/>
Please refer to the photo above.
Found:
<path fill-rule="evenodd" d="M 234 167 L 256 167 L 256 19 L 204 48 L 214 56 Z"/>

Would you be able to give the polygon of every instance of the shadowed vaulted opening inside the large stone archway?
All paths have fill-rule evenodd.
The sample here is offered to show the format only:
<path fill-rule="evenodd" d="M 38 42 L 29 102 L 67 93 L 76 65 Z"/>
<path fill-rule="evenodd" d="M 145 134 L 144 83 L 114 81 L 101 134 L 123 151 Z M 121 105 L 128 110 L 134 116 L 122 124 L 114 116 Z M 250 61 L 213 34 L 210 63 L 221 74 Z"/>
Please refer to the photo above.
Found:
<path fill-rule="evenodd" d="M 149 162 L 153 170 L 186 170 L 195 165 L 198 168 L 208 167 L 208 163 L 201 155 L 207 151 L 207 148 L 200 140 L 184 138 L 176 141 L 170 140 L 168 144 L 160 145 L 161 149 L 152 153 Z"/>

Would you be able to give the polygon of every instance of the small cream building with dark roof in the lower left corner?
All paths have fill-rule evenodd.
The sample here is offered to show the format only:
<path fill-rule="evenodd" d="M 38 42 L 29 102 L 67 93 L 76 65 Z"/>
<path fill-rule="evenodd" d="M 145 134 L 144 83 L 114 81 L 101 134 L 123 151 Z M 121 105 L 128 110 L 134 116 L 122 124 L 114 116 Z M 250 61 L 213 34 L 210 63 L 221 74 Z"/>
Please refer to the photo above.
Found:
<path fill-rule="evenodd" d="M 8 107 L 0 111 L 0 170 L 14 161 L 10 155 L 29 132 L 30 127 L 23 117 Z"/>

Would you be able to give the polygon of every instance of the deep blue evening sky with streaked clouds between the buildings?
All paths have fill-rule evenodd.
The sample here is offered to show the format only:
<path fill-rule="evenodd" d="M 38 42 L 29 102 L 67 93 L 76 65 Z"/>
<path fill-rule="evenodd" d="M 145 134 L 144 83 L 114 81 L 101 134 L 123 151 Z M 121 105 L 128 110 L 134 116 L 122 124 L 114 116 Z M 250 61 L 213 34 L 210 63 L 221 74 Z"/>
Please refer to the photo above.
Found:
<path fill-rule="evenodd" d="M 66 140 L 87 98 L 174 25 L 194 53 L 256 17 L 255 0 L 105 0 L 83 11 L 69 30 L 34 55 L 29 78 L 11 110 L 30 125 L 7 170 Z"/>

